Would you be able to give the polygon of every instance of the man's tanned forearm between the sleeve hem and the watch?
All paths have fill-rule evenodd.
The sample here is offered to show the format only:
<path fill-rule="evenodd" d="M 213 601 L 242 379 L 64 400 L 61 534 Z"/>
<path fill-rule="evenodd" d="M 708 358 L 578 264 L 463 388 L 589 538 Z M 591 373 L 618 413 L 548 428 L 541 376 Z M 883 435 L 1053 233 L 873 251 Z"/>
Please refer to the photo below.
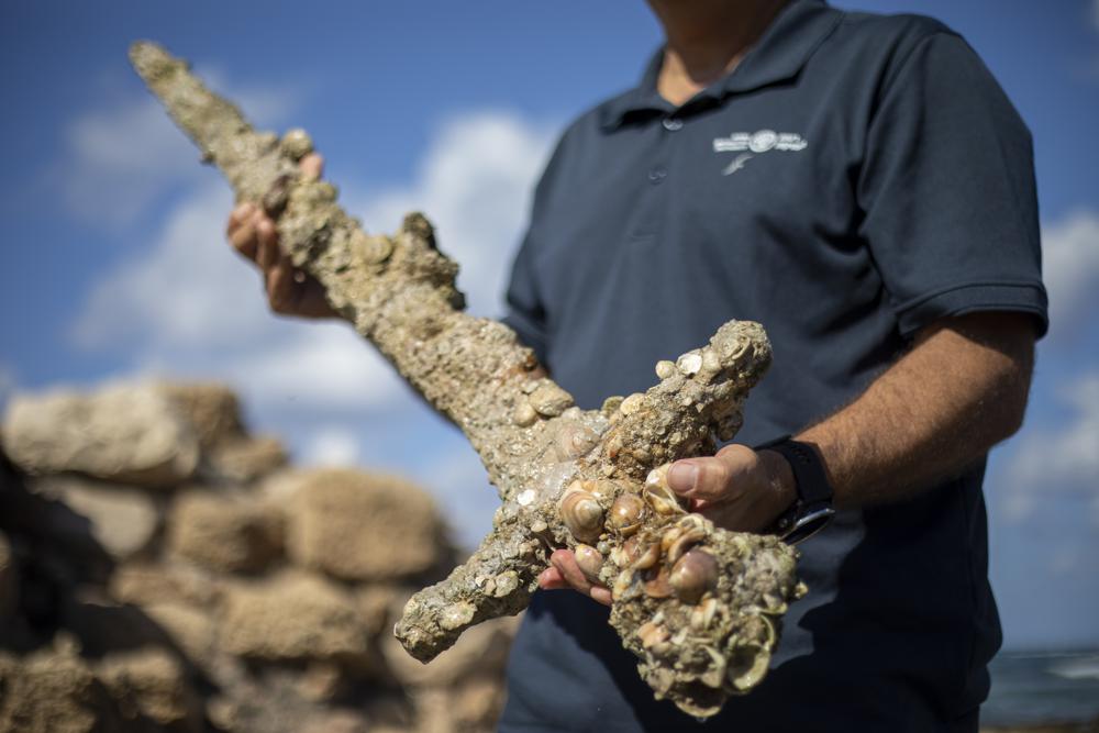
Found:
<path fill-rule="evenodd" d="M 839 507 L 911 496 L 1018 430 L 1033 327 L 1014 313 L 944 320 L 846 408 L 797 440 L 820 452 Z"/>

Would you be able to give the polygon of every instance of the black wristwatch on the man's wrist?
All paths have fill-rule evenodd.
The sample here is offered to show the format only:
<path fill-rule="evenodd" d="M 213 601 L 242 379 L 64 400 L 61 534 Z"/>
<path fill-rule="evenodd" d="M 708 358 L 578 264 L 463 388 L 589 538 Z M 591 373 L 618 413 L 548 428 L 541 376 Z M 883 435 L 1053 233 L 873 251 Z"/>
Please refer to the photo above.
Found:
<path fill-rule="evenodd" d="M 775 520 L 771 533 L 787 544 L 796 545 L 828 526 L 835 515 L 832 485 L 828 482 L 824 465 L 812 446 L 784 435 L 757 445 L 753 451 L 774 451 L 780 454 L 793 471 L 798 498 Z"/>

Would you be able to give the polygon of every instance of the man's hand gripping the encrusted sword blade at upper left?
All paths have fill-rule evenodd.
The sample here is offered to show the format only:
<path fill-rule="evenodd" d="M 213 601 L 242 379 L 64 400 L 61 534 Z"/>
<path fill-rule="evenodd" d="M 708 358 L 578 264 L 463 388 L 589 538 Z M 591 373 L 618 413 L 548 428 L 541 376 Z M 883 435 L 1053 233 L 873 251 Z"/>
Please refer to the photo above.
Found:
<path fill-rule="evenodd" d="M 300 165 L 302 176 L 317 180 L 324 169 L 324 158 L 310 153 Z M 321 284 L 282 254 L 275 222 L 260 207 L 248 201 L 237 206 L 229 216 L 225 233 L 233 248 L 259 267 L 267 303 L 274 312 L 312 319 L 338 316 L 325 300 Z"/>

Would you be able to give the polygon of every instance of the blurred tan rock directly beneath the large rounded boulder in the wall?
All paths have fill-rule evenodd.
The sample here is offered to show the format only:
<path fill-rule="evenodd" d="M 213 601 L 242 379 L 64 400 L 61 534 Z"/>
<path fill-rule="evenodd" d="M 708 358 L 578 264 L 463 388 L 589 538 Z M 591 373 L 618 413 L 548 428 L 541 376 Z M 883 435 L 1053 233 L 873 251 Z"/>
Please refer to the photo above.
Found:
<path fill-rule="evenodd" d="M 226 586 L 220 643 L 231 654 L 267 660 L 365 662 L 369 653 L 348 595 L 297 573 Z"/>

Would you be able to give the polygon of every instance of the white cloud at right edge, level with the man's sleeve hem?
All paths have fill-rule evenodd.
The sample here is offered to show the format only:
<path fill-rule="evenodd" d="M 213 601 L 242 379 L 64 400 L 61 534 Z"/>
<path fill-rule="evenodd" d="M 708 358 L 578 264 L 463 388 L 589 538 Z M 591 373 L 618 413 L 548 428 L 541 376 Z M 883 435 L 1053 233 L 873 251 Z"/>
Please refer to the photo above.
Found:
<path fill-rule="evenodd" d="M 1042 230 L 1051 333 L 1072 333 L 1099 307 L 1099 213 L 1076 211 Z"/>

